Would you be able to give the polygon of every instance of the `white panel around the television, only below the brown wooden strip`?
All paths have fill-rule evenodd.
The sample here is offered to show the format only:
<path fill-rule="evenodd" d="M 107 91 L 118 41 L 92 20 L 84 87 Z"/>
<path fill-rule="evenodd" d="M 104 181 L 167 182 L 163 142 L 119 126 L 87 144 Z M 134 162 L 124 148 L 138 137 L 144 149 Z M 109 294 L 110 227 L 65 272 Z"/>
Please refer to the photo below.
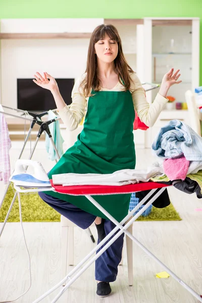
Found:
<path fill-rule="evenodd" d="M 43 71 L 77 78 L 86 67 L 89 39 L 2 39 L 2 104 L 17 108 L 17 78 Z"/>

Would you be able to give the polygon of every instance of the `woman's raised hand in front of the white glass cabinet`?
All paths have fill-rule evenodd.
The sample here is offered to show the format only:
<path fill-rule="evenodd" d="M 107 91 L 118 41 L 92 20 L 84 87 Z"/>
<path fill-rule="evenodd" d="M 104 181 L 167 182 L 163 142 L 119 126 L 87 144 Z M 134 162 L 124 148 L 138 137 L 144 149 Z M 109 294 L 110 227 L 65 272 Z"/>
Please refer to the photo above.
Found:
<path fill-rule="evenodd" d="M 178 79 L 180 77 L 180 74 L 178 74 L 178 73 L 180 70 L 177 70 L 174 74 L 173 74 L 173 71 L 174 71 L 174 68 L 171 68 L 170 71 L 164 75 L 162 83 L 161 83 L 159 93 L 165 97 L 167 95 L 169 88 L 172 85 L 179 84 L 182 82 L 181 80 L 178 81 Z"/>

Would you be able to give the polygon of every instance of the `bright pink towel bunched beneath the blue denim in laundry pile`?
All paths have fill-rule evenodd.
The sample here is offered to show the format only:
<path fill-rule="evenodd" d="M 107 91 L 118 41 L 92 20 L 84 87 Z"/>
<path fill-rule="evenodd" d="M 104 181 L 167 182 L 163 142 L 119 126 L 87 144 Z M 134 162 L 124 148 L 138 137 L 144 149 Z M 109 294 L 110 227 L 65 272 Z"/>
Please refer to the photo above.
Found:
<path fill-rule="evenodd" d="M 173 180 L 184 180 L 187 175 L 190 161 L 183 156 L 176 159 L 167 159 L 163 162 L 164 173 Z"/>

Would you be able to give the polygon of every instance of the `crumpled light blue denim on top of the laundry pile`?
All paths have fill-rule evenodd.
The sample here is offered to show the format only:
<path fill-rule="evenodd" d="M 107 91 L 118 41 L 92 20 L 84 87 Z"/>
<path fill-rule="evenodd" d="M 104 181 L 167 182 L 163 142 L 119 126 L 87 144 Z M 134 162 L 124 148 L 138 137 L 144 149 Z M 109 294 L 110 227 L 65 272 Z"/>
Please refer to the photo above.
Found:
<path fill-rule="evenodd" d="M 162 159 L 184 155 L 186 160 L 202 161 L 202 138 L 179 120 L 171 120 L 160 129 L 151 149 Z"/>

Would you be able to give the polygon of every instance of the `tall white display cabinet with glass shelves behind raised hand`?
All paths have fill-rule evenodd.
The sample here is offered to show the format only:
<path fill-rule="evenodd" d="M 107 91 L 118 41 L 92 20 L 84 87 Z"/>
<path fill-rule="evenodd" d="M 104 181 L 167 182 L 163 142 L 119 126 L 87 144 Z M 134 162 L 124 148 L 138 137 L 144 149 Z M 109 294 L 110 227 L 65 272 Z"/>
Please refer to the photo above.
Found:
<path fill-rule="evenodd" d="M 176 102 L 185 102 L 185 92 L 199 85 L 199 18 L 144 18 L 145 82 L 161 84 L 164 74 L 172 67 L 180 69 L 182 83 L 170 88 L 168 95 Z M 147 92 L 152 103 L 158 89 Z M 150 147 L 159 128 L 169 120 L 189 124 L 186 110 L 163 110 L 153 128 L 146 131 L 145 147 Z"/>

